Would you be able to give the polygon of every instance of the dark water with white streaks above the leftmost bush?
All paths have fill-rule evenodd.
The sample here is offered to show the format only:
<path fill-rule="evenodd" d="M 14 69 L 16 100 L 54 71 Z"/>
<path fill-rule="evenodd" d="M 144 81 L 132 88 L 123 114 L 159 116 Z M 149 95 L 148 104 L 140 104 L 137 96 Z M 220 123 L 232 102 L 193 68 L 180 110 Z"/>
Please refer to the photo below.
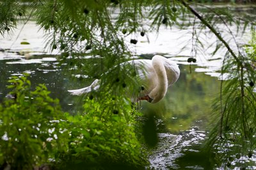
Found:
<path fill-rule="evenodd" d="M 66 87 L 68 79 L 61 70 L 56 58 L 24 59 L 20 56 L 19 59 L 0 60 L 0 102 L 9 92 L 6 88 L 8 79 L 12 75 L 19 76 L 25 72 L 30 74 L 32 88 L 38 84 L 45 84 L 51 91 L 51 96 L 60 99 L 62 108 L 72 112 L 72 97 Z"/>

